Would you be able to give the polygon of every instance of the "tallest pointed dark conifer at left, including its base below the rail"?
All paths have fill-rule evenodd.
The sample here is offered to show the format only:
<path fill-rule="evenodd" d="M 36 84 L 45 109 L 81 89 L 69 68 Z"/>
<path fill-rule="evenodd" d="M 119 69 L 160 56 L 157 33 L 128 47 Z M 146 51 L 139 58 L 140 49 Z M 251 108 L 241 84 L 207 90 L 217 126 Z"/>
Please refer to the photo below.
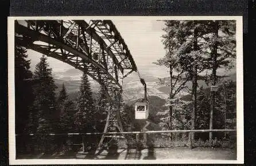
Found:
<path fill-rule="evenodd" d="M 46 61 L 47 58 L 42 55 L 40 62 L 36 65 L 34 71 L 34 80 L 37 80 L 33 86 L 34 104 L 30 114 L 32 118 L 32 132 L 53 133 L 56 132 L 59 123 L 59 113 L 55 102 L 56 85 L 52 77 L 52 69 Z M 37 137 L 37 144 L 42 151 L 51 151 L 53 137 Z"/>

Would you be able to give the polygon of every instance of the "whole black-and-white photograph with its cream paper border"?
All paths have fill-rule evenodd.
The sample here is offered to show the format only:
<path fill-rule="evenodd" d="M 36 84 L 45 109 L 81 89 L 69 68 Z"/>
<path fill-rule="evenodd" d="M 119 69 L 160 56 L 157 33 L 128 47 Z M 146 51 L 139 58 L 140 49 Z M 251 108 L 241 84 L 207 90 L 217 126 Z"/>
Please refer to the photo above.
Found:
<path fill-rule="evenodd" d="M 8 28 L 11 163 L 243 163 L 242 17 Z"/>

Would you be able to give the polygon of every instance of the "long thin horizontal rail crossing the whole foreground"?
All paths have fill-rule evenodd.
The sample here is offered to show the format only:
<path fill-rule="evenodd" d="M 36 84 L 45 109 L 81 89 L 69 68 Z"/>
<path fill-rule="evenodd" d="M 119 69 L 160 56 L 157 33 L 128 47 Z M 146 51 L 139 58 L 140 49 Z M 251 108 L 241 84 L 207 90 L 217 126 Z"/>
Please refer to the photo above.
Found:
<path fill-rule="evenodd" d="M 174 131 L 142 131 L 142 132 L 107 132 L 107 133 L 34 133 L 34 134 L 21 134 L 21 135 L 49 135 L 49 136 L 72 136 L 72 135 L 117 135 L 117 134 L 152 134 L 152 133 L 203 133 L 203 132 L 236 132 L 236 129 L 205 129 L 205 130 L 174 130 Z M 15 136 L 21 136 L 15 135 Z"/>

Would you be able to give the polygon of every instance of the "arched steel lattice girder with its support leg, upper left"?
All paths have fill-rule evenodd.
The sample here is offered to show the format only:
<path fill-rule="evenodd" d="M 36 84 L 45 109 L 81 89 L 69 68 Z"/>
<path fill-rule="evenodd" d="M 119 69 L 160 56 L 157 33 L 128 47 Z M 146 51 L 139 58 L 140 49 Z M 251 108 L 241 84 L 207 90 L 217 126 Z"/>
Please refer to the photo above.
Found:
<path fill-rule="evenodd" d="M 102 21 L 97 22 L 100 24 Z M 76 69 L 87 70 L 88 76 L 105 86 L 106 99 L 112 105 L 111 117 L 109 118 L 113 121 L 118 121 L 117 128 L 120 132 L 123 132 L 120 117 L 122 108 L 118 97 L 121 96 L 122 86 L 119 84 L 118 78 L 125 78 L 131 72 L 136 71 L 137 67 L 129 49 L 127 49 L 127 45 L 117 29 L 115 29 L 115 26 L 112 25 L 112 22 L 107 21 L 108 24 L 114 27 L 114 31 L 118 32 L 118 38 L 115 38 L 111 33 L 111 35 L 108 34 L 109 29 L 107 29 L 107 26 L 102 35 L 102 33 L 96 31 L 96 23 L 89 26 L 86 21 L 64 22 L 51 20 L 28 21 L 28 23 L 28 27 L 22 26 L 18 22 L 15 24 L 15 32 L 23 36 L 23 38 L 15 37 L 16 44 L 18 43 L 46 56 L 56 58 Z M 63 23 L 67 26 L 64 26 Z M 103 40 L 104 36 L 110 41 L 108 46 L 105 42 L 106 40 Z M 88 44 L 89 41 L 87 39 L 90 39 L 90 44 Z M 33 44 L 34 41 L 42 41 L 48 45 Z M 88 47 L 89 45 L 90 48 Z M 125 77 L 120 77 L 119 71 L 123 74 L 124 69 L 131 70 Z M 107 132 L 107 129 L 108 123 L 104 132 Z M 103 140 L 104 137 L 100 142 L 102 143 Z"/>

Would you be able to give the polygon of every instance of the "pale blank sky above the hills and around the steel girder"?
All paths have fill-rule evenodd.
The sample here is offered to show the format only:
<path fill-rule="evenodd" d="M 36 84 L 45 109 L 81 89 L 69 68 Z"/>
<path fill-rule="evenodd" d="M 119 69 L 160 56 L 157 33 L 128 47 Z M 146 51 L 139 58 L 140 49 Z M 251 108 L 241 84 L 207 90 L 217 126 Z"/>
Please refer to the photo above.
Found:
<path fill-rule="evenodd" d="M 157 59 L 164 56 L 165 50 L 161 42 L 161 35 L 164 34 L 162 31 L 164 22 L 148 19 L 122 21 L 114 19 L 113 22 L 125 40 L 138 69 L 145 70 L 149 66 L 154 67 L 152 62 L 156 62 Z M 34 70 L 40 60 L 41 53 L 28 50 L 28 55 L 31 59 L 31 69 Z M 48 57 L 48 62 L 53 73 L 73 69 L 72 66 L 51 57 Z M 143 71 L 141 73 L 143 74 Z"/>

